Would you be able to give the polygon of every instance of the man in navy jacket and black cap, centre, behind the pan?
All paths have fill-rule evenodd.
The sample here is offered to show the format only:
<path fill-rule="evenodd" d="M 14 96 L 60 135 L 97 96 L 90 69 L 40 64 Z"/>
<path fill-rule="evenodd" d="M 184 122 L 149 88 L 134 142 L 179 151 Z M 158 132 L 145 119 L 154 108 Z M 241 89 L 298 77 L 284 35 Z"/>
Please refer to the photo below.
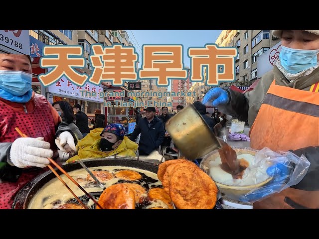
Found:
<path fill-rule="evenodd" d="M 155 116 L 155 107 L 145 109 L 145 118 L 139 120 L 130 139 L 135 141 L 141 133 L 139 142 L 139 154 L 149 155 L 154 150 L 157 150 L 164 140 L 165 129 L 163 122 Z"/>

